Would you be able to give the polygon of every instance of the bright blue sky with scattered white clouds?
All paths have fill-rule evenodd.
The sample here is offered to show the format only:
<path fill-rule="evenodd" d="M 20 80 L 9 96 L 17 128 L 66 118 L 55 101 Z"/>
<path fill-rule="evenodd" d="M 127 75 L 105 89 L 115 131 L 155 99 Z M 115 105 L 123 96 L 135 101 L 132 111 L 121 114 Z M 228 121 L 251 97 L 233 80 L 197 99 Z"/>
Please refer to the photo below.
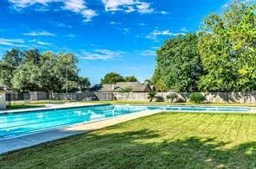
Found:
<path fill-rule="evenodd" d="M 80 75 L 150 78 L 157 48 L 195 32 L 229 0 L 1 0 L 0 57 L 13 47 L 72 52 Z"/>

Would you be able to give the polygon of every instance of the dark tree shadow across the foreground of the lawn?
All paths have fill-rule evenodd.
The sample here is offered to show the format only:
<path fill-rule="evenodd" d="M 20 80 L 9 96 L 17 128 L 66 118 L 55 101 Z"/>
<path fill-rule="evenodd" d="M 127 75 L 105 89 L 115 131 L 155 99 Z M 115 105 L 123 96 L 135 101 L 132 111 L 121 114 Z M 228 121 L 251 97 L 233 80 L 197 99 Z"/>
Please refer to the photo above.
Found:
<path fill-rule="evenodd" d="M 255 168 L 256 141 L 231 149 L 214 138 L 164 139 L 154 131 L 111 128 L 0 156 L 0 167 Z M 107 133 L 105 133 L 107 132 Z"/>

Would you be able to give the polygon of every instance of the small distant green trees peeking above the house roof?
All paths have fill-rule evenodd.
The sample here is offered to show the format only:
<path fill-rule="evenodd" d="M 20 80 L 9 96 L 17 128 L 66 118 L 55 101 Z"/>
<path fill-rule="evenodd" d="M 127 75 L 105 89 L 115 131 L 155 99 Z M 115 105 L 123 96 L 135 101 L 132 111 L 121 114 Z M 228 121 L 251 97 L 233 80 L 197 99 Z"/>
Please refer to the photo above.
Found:
<path fill-rule="evenodd" d="M 106 73 L 104 78 L 101 78 L 101 84 L 116 84 L 118 82 L 138 82 L 135 76 L 123 77 L 117 72 Z"/>

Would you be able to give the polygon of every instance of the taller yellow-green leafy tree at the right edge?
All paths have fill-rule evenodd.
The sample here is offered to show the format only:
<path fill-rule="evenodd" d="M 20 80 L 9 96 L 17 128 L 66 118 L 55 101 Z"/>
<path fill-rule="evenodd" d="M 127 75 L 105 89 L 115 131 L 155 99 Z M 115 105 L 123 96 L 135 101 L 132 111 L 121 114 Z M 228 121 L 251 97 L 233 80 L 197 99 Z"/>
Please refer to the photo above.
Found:
<path fill-rule="evenodd" d="M 256 90 L 256 5 L 234 2 L 204 21 L 199 51 L 204 91 Z"/>

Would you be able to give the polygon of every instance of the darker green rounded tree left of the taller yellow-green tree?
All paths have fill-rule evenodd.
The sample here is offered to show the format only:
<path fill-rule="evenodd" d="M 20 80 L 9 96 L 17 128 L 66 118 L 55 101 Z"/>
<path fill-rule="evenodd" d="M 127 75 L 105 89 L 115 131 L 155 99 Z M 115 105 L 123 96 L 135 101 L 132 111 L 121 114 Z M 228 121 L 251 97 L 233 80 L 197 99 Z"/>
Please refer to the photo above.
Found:
<path fill-rule="evenodd" d="M 202 62 L 196 34 L 176 36 L 157 51 L 153 82 L 158 90 L 196 91 Z"/>

